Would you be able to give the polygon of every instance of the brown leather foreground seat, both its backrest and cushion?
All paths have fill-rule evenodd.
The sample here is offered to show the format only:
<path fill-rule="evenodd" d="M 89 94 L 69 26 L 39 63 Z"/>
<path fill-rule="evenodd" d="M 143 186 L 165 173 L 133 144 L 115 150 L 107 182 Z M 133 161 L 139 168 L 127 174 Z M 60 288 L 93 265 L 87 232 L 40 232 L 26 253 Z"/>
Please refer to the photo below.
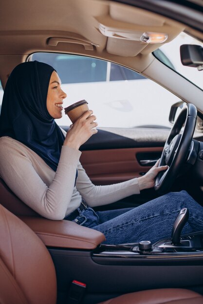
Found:
<path fill-rule="evenodd" d="M 52 258 L 38 236 L 0 205 L 0 304 L 55 304 Z M 103 304 L 203 304 L 186 289 L 156 289 L 122 295 Z"/>

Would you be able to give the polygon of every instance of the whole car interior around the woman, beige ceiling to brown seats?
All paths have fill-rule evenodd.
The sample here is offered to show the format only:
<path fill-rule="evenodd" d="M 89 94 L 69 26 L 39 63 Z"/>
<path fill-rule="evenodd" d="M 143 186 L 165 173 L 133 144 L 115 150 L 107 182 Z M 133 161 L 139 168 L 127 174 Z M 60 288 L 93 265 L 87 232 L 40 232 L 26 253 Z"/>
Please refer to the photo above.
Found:
<path fill-rule="evenodd" d="M 79 99 L 91 104 L 92 98 L 95 112 L 101 109 L 98 133 L 80 149 L 80 162 L 93 184 L 142 176 L 159 158 L 160 165 L 169 165 L 154 188 L 95 210 L 137 207 L 183 189 L 203 205 L 203 5 L 199 0 L 183 2 L 1 4 L 0 96 L 19 63 L 53 64 L 64 75 L 67 94 L 70 87 L 69 104 Z M 162 49 L 183 33 L 199 43 L 185 44 L 178 56 L 191 77 L 198 73 L 197 83 L 170 60 L 173 47 L 168 53 Z M 92 72 L 96 66 L 97 76 Z M 111 88 L 120 96 L 112 97 Z M 129 94 L 136 106 L 121 94 Z M 159 117 L 166 117 L 166 124 Z M 59 125 L 65 131 L 70 127 L 66 117 Z M 103 244 L 105 236 L 96 230 L 43 218 L 0 176 L 0 303 L 203 303 L 203 231 L 182 235 L 187 219 L 185 208 L 171 227 L 171 237 L 154 244 L 147 239 Z"/>

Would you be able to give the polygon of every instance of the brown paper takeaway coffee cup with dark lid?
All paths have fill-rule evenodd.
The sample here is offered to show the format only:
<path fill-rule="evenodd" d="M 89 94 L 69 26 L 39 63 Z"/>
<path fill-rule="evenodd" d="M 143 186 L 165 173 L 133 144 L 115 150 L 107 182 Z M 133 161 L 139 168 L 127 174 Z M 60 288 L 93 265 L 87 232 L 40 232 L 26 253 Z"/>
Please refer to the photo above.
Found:
<path fill-rule="evenodd" d="M 71 104 L 64 110 L 65 114 L 67 114 L 72 123 L 74 123 L 79 117 L 83 115 L 83 113 L 89 110 L 88 102 L 83 99 L 81 101 L 75 102 L 74 104 Z"/>

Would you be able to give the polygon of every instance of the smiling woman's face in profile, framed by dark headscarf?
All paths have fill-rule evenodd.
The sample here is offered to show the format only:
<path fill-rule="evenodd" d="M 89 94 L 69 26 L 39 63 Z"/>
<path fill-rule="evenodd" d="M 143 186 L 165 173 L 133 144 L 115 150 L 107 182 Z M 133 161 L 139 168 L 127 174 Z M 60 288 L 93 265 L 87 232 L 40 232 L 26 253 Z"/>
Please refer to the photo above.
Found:
<path fill-rule="evenodd" d="M 61 89 L 61 81 L 58 74 L 54 71 L 51 75 L 47 93 L 47 110 L 53 118 L 61 118 L 63 110 L 63 99 L 66 93 Z"/>

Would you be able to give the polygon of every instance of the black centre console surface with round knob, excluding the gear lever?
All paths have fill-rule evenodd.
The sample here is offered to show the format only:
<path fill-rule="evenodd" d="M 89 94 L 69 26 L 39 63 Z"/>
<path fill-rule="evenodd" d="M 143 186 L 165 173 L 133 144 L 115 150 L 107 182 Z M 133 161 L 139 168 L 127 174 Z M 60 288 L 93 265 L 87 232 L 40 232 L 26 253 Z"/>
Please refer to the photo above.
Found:
<path fill-rule="evenodd" d="M 175 262 L 182 265 L 189 261 L 196 263 L 197 260 L 203 261 L 203 231 L 180 237 L 177 245 L 173 244 L 172 238 L 166 238 L 154 244 L 141 241 L 134 244 L 100 245 L 92 254 L 92 259 L 101 264 L 107 263 L 105 257 L 108 258 L 109 265 L 141 265 L 144 260 L 144 263 L 148 260 L 149 264 L 153 261 L 153 264 L 160 265 L 163 259 L 165 265 L 169 261 L 170 265 Z"/>

